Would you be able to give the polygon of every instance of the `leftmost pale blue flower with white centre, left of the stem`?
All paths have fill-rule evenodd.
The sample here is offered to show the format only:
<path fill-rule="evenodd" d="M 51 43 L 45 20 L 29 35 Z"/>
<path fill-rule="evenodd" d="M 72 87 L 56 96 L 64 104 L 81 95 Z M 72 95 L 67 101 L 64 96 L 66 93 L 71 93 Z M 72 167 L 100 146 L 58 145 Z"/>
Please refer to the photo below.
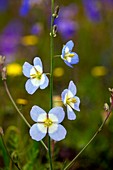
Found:
<path fill-rule="evenodd" d="M 23 74 L 29 78 L 25 84 L 25 89 L 29 94 L 33 94 L 39 87 L 45 89 L 49 83 L 48 77 L 43 73 L 41 59 L 35 57 L 33 63 L 34 66 L 28 62 L 23 65 Z"/>

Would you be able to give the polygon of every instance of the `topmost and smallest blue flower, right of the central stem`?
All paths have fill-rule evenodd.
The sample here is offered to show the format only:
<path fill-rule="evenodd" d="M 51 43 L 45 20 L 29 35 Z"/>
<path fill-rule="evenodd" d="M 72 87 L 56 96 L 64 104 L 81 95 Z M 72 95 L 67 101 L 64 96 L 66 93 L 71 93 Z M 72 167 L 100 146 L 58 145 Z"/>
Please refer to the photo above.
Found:
<path fill-rule="evenodd" d="M 74 43 L 72 40 L 68 41 L 62 49 L 61 58 L 69 66 L 73 67 L 72 64 L 77 64 L 79 62 L 79 57 L 75 52 L 71 52 L 73 49 Z"/>

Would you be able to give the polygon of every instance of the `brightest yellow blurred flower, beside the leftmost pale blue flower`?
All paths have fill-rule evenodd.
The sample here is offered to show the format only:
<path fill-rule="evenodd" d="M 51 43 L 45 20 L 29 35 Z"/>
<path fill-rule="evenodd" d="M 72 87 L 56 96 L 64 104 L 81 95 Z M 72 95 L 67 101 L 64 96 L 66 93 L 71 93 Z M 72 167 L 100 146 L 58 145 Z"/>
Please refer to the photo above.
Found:
<path fill-rule="evenodd" d="M 18 63 L 8 64 L 6 69 L 9 76 L 19 76 L 22 74 L 22 66 Z"/>

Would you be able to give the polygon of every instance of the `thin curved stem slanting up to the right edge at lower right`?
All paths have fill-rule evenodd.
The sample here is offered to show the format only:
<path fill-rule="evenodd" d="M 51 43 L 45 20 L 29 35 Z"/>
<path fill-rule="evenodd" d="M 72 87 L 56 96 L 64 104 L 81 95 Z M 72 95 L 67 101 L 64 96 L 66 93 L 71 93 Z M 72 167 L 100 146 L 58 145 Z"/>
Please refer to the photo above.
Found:
<path fill-rule="evenodd" d="M 104 119 L 104 121 L 102 122 L 102 124 L 100 125 L 100 127 L 98 128 L 98 130 L 95 132 L 95 134 L 93 135 L 93 137 L 89 140 L 89 142 L 83 147 L 83 149 L 74 157 L 74 159 L 64 168 L 64 170 L 67 170 L 70 166 L 73 165 L 74 161 L 81 155 L 81 153 L 89 146 L 89 144 L 95 139 L 95 137 L 102 131 L 103 126 L 105 125 L 107 119 L 110 116 L 110 113 L 113 109 L 113 105 L 111 104 L 110 110 L 107 112 L 107 116 Z"/>

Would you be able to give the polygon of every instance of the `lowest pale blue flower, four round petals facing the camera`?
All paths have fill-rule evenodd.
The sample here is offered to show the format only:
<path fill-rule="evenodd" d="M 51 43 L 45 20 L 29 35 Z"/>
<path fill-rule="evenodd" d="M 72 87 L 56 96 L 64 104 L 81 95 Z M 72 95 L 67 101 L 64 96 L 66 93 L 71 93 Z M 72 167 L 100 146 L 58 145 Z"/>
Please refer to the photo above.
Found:
<path fill-rule="evenodd" d="M 36 141 L 42 140 L 46 134 L 55 141 L 65 138 L 66 130 L 59 124 L 63 121 L 65 112 L 62 107 L 54 107 L 46 113 L 39 106 L 33 106 L 30 111 L 31 118 L 36 122 L 30 128 L 30 136 Z"/>

